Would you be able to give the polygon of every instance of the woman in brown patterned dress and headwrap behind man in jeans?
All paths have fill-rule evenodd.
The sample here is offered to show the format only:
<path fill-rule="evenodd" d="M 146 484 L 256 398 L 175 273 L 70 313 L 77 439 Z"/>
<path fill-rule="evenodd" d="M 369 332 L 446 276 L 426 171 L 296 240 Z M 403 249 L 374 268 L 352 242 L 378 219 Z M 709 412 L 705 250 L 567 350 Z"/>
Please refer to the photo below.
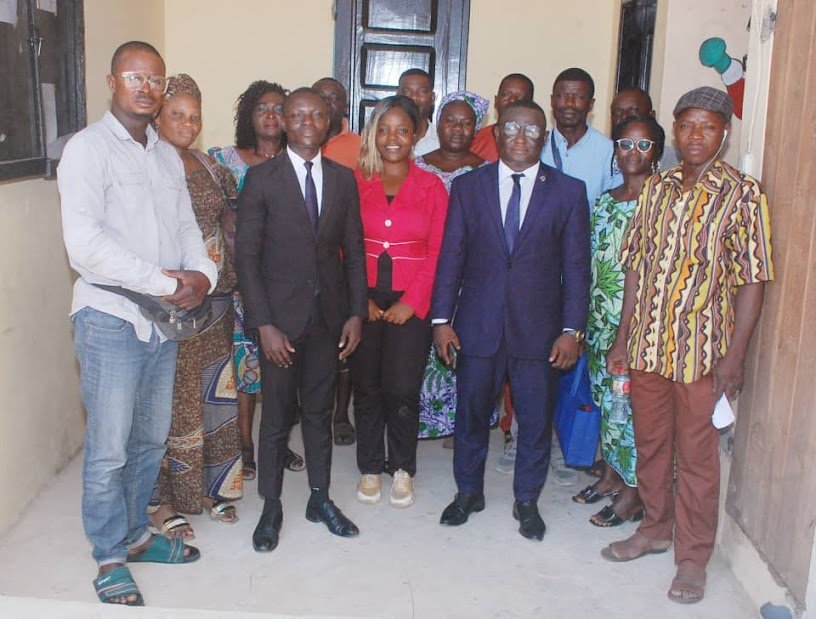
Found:
<path fill-rule="evenodd" d="M 237 196 L 224 167 L 190 148 L 201 132 L 201 92 L 185 74 L 168 79 L 155 120 L 159 137 L 178 151 L 196 223 L 218 266 L 215 295 L 229 296 L 236 284 L 231 240 L 235 214 L 227 196 Z M 176 510 L 210 510 L 213 519 L 238 520 L 229 501 L 241 498 L 238 404 L 232 365 L 232 314 L 227 312 L 196 337 L 179 342 L 173 390 L 173 421 L 167 453 L 151 500 L 152 524 L 168 537 L 193 537 Z"/>

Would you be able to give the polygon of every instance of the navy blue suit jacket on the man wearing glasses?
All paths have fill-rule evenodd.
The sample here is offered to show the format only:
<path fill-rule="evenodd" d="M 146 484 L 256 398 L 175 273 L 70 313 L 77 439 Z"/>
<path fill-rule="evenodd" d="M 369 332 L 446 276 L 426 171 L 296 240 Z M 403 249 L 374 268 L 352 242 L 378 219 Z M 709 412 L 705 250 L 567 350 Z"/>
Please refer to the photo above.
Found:
<path fill-rule="evenodd" d="M 540 164 L 513 253 L 498 163 L 457 178 L 434 283 L 432 319 L 452 319 L 462 354 L 548 359 L 562 329 L 586 329 L 589 206 L 584 183 Z"/>

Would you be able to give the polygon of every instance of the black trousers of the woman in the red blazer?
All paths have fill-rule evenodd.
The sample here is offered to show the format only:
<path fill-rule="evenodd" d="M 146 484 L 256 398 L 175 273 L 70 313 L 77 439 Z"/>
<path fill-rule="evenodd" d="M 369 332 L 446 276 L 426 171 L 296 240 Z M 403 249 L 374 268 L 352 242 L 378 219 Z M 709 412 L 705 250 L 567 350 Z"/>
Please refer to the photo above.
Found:
<path fill-rule="evenodd" d="M 363 474 L 403 469 L 416 474 L 419 390 L 431 327 L 413 316 L 405 324 L 382 320 L 363 325 L 363 339 L 351 357 L 357 466 Z"/>

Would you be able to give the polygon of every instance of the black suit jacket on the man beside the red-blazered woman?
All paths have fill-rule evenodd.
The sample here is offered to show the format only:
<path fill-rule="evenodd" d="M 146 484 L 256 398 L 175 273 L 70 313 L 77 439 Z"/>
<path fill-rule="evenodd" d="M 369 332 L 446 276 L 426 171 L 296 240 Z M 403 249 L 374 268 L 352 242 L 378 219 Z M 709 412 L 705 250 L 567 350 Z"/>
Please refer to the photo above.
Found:
<path fill-rule="evenodd" d="M 323 158 L 317 238 L 289 156 L 249 169 L 235 237 L 245 327 L 272 324 L 290 340 L 303 333 L 320 291 L 323 316 L 339 337 L 349 316 L 368 316 L 363 227 L 351 170 Z"/>

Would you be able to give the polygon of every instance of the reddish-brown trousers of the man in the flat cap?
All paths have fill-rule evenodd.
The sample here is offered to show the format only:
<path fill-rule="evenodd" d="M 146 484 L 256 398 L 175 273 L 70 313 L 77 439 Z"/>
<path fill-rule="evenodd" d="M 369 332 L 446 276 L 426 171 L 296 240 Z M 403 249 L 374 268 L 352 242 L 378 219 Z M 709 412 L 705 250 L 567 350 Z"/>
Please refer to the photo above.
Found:
<path fill-rule="evenodd" d="M 720 495 L 711 376 L 684 384 L 651 372 L 630 373 L 638 492 L 646 508 L 638 531 L 652 540 L 673 540 L 677 565 L 691 561 L 705 568 L 714 549 Z"/>

